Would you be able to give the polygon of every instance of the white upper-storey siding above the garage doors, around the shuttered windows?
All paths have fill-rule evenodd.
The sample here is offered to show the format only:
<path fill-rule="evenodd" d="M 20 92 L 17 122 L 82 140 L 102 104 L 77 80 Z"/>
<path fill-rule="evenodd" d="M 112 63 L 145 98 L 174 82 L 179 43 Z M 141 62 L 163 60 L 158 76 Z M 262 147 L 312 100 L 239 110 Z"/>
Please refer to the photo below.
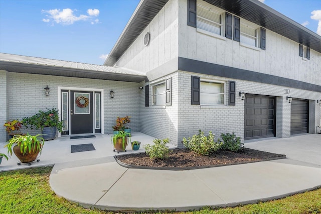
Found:
<path fill-rule="evenodd" d="M 298 56 L 298 46 L 269 30 L 265 51 L 199 33 L 187 26 L 187 1 L 179 1 L 179 57 L 320 85 L 321 53 L 311 49 L 310 60 L 303 60 Z"/>

